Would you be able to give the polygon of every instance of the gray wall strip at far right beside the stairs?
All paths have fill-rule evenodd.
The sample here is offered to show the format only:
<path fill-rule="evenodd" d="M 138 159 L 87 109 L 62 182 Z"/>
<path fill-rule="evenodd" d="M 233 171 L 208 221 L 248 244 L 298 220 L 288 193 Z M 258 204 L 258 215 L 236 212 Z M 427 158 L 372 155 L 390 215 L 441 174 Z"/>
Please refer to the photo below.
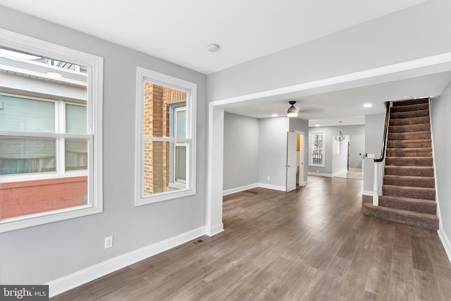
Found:
<path fill-rule="evenodd" d="M 433 156 L 438 206 L 440 208 L 440 231 L 451 241 L 451 83 L 438 99 L 431 99 L 431 122 Z M 451 247 L 448 245 L 448 248 Z"/>

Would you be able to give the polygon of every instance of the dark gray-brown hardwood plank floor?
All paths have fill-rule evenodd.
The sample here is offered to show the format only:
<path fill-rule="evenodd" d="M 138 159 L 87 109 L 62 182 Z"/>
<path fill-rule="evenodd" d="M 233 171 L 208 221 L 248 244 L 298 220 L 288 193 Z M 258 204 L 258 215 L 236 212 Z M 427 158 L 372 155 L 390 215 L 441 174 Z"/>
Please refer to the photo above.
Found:
<path fill-rule="evenodd" d="M 362 180 L 223 199 L 225 231 L 51 300 L 451 300 L 434 231 L 362 213 Z"/>

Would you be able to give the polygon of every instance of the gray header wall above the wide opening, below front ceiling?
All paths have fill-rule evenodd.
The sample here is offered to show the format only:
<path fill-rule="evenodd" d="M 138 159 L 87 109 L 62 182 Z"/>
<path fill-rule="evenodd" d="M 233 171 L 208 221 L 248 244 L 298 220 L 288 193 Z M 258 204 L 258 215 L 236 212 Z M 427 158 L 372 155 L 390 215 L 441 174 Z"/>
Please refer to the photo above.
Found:
<path fill-rule="evenodd" d="M 451 51 L 450 0 L 430 0 L 208 75 L 214 101 Z M 421 21 L 419 21 L 421 20 Z"/>

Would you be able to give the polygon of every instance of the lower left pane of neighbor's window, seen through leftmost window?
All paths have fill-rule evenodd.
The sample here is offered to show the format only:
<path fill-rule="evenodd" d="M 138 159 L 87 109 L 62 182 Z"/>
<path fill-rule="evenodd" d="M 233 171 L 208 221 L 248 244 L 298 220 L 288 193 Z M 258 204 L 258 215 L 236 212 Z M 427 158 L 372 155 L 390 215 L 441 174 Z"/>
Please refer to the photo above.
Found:
<path fill-rule="evenodd" d="M 0 136 L 0 175 L 55 171 L 54 138 Z"/>

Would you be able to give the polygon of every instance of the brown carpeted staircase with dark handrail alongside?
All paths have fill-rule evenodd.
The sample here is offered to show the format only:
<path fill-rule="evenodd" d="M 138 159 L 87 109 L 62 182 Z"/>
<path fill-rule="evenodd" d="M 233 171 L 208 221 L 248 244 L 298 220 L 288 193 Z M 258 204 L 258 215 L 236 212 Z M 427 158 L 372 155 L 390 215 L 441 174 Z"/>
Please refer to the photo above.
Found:
<path fill-rule="evenodd" d="M 364 214 L 438 230 L 428 99 L 393 102 L 379 206 Z"/>

